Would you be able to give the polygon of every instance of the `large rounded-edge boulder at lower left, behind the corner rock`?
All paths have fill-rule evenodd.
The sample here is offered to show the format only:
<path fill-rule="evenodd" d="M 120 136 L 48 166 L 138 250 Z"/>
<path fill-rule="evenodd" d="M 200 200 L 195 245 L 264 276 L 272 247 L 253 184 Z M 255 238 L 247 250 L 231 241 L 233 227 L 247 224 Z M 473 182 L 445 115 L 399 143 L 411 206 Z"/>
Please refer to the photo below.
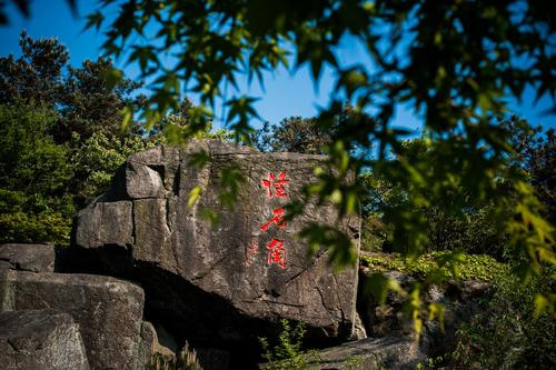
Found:
<path fill-rule="evenodd" d="M 0 271 L 1 310 L 48 308 L 71 314 L 92 369 L 140 367 L 143 299 L 138 286 L 108 277 Z"/>

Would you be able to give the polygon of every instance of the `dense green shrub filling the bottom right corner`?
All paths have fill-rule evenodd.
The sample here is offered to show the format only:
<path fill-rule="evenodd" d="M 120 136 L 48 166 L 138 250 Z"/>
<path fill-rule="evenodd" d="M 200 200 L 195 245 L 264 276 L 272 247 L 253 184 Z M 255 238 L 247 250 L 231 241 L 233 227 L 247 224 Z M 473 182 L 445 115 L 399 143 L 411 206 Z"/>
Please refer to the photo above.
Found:
<path fill-rule="evenodd" d="M 527 286 L 510 274 L 498 276 L 494 294 L 484 300 L 479 313 L 459 328 L 450 368 L 554 369 L 554 312 L 544 311 L 536 318 L 533 304 L 535 292 L 543 288 L 539 286 L 550 283 L 554 279 L 549 276 Z"/>

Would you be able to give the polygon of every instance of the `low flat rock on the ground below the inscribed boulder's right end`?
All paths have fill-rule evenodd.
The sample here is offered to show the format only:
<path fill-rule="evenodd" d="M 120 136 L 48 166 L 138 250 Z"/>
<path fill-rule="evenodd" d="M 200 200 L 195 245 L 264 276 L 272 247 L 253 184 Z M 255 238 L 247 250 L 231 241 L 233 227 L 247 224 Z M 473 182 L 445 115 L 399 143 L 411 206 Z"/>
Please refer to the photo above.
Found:
<path fill-rule="evenodd" d="M 307 368 L 320 370 L 415 369 L 426 360 L 407 338 L 366 338 L 327 348 L 305 357 Z M 262 369 L 270 368 L 262 364 Z"/>

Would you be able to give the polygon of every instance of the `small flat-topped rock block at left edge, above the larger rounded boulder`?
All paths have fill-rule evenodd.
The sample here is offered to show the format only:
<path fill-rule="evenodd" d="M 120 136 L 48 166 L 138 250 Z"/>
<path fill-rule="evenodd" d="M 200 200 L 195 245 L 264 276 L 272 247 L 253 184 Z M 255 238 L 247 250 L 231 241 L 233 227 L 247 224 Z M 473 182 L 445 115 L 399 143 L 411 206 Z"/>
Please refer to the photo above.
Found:
<path fill-rule="evenodd" d="M 2 266 L 14 270 L 53 272 L 54 247 L 52 244 L 0 244 L 0 262 L 7 262 Z"/>

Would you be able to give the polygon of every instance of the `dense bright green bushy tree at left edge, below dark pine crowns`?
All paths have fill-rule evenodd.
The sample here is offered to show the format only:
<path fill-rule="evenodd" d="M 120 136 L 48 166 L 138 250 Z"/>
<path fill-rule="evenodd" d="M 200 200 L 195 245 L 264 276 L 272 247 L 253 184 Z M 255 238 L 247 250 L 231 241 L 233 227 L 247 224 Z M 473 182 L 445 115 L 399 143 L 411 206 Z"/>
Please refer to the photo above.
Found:
<path fill-rule="evenodd" d="M 49 134 L 51 110 L 0 106 L 0 242 L 67 243 L 73 176 L 67 146 Z"/>

